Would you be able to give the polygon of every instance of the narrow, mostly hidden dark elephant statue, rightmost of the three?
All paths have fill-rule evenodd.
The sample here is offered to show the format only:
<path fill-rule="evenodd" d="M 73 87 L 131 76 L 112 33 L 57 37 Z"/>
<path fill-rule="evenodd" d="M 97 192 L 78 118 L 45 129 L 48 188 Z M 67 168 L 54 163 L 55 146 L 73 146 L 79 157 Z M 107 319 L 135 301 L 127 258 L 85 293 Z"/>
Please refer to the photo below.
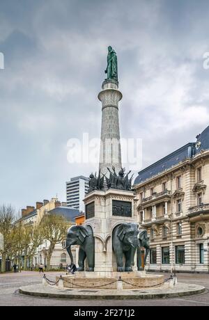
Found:
<path fill-rule="evenodd" d="M 146 249 L 144 255 L 144 266 L 146 266 L 146 259 L 150 252 L 150 238 L 147 235 L 147 230 L 139 230 L 139 246 L 137 248 L 137 269 L 138 271 L 144 270 L 141 264 L 141 247 Z"/>

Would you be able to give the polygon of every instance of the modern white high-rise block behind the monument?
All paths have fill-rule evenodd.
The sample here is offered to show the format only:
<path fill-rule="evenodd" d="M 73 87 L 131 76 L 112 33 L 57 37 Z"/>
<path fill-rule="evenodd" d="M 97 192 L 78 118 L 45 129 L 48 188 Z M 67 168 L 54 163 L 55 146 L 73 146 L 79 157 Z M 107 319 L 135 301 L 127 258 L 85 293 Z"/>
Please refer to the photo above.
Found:
<path fill-rule="evenodd" d="M 66 182 L 66 200 L 68 207 L 79 209 L 80 211 L 85 210 L 83 200 L 88 192 L 88 181 L 89 179 L 87 177 L 80 175 Z"/>

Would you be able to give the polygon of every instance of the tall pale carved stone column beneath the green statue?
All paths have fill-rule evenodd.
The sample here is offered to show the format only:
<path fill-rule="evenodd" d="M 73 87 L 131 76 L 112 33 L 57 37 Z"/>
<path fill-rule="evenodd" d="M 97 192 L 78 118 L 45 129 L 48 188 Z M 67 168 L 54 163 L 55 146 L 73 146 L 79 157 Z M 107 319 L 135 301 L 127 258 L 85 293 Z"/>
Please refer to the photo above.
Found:
<path fill-rule="evenodd" d="M 121 141 L 118 120 L 118 102 L 123 95 L 118 90 L 118 81 L 105 80 L 98 99 L 102 102 L 102 129 L 100 145 L 100 170 L 108 174 L 107 167 L 121 170 Z"/>

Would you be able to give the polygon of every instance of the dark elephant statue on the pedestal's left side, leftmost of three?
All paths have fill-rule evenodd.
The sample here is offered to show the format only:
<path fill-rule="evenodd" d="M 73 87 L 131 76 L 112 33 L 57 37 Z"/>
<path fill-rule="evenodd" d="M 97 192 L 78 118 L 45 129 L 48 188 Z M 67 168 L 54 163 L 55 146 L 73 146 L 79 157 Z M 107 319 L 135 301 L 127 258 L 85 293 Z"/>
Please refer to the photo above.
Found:
<path fill-rule="evenodd" d="M 89 225 L 74 225 L 68 230 L 66 238 L 66 250 L 70 255 L 71 264 L 74 264 L 71 246 L 79 246 L 79 268 L 77 271 L 84 271 L 84 262 L 87 259 L 88 270 L 94 271 L 94 253 L 95 241 L 93 237 L 93 230 Z"/>

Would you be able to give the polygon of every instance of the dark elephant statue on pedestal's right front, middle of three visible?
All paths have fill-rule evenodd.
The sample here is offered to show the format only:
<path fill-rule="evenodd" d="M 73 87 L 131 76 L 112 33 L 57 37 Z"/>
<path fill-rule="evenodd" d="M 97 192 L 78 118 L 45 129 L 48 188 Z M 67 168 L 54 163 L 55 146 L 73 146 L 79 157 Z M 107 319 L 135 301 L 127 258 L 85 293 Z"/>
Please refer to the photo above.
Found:
<path fill-rule="evenodd" d="M 117 271 L 132 271 L 134 255 L 139 246 L 139 225 L 137 223 L 121 223 L 114 228 L 112 244 L 116 255 Z M 125 255 L 125 269 L 123 266 L 123 254 Z"/>

